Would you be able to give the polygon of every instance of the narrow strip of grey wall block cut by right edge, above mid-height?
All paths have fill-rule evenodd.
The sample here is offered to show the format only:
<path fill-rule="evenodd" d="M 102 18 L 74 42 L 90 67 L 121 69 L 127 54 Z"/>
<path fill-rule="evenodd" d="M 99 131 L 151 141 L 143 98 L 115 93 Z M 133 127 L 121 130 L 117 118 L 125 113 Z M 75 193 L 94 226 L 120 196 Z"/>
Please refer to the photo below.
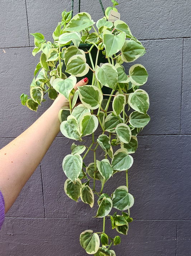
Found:
<path fill-rule="evenodd" d="M 181 134 L 191 134 L 191 39 L 184 39 L 182 74 Z"/>

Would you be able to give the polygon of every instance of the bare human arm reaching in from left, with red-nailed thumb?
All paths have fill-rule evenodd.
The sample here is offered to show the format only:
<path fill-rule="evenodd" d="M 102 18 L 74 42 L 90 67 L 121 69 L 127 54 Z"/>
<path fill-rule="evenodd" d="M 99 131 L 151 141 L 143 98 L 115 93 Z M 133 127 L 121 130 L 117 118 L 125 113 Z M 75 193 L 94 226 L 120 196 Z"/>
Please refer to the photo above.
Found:
<path fill-rule="evenodd" d="M 87 82 L 81 80 L 75 89 Z M 58 112 L 66 103 L 66 98 L 59 94 L 51 107 L 33 125 L 0 150 L 0 191 L 5 201 L 5 213 L 58 134 Z"/>

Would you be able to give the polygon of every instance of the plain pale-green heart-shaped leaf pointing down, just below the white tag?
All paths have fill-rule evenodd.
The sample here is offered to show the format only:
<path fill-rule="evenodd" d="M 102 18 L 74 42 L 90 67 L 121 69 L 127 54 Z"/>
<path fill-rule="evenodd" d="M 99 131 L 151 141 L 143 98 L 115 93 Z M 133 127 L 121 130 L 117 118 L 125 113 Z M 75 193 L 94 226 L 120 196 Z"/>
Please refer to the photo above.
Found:
<path fill-rule="evenodd" d="M 125 39 L 125 32 L 120 32 L 118 35 L 113 35 L 110 31 L 104 30 L 103 43 L 106 50 L 106 58 L 118 53 L 118 51 L 120 51 L 123 47 Z"/>

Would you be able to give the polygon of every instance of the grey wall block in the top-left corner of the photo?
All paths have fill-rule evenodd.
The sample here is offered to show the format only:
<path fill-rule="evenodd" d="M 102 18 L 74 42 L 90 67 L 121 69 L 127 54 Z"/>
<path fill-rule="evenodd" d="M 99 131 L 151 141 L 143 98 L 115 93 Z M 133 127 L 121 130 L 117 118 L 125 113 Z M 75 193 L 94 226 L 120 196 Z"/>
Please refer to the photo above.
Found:
<path fill-rule="evenodd" d="M 1 0 L 0 10 L 0 48 L 29 46 L 25 0 Z"/>

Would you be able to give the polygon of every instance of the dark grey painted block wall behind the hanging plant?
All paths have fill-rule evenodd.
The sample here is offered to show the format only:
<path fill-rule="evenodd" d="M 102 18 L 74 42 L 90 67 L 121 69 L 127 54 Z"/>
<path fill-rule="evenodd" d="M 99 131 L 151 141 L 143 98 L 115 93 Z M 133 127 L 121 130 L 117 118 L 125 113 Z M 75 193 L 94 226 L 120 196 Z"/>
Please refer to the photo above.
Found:
<path fill-rule="evenodd" d="M 104 8 L 110 5 L 109 0 L 102 2 Z M 20 94 L 29 92 L 38 63 L 38 57 L 32 56 L 34 44 L 29 33 L 41 32 L 52 40 L 62 11 L 69 11 L 70 6 L 66 0 L 0 2 L 0 147 L 27 129 L 51 104 L 47 101 L 35 113 L 20 103 Z M 81 10 L 94 20 L 102 17 L 99 1 L 83 0 Z M 149 73 L 143 89 L 150 96 L 151 121 L 138 136 L 139 147 L 129 170 L 129 191 L 135 197 L 131 209 L 134 221 L 121 246 L 114 250 L 117 256 L 189 256 L 191 3 L 121 0 L 118 10 L 147 49 L 137 63 Z M 64 193 L 66 176 L 61 162 L 70 153 L 70 145 L 58 134 L 6 214 L 0 232 L 0 255 L 86 255 L 79 235 L 86 229 L 100 229 L 102 221 L 92 219 L 95 208 L 76 203 Z M 113 180 L 107 183 L 113 192 L 124 184 L 124 176 L 118 175 L 118 184 Z"/>

